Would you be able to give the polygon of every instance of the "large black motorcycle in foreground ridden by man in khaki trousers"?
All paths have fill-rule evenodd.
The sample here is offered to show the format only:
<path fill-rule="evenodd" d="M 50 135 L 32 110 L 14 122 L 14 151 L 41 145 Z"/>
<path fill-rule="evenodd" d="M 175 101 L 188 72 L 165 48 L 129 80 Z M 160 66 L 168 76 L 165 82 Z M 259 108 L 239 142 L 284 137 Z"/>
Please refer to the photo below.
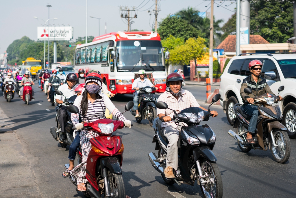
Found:
<path fill-rule="evenodd" d="M 220 94 L 213 97 L 212 104 L 220 99 Z M 210 106 L 212 105 L 210 104 Z M 157 102 L 157 108 L 169 109 L 165 102 Z M 179 133 L 178 140 L 178 170 L 174 171 L 175 179 L 167 179 L 164 175 L 166 167 L 168 140 L 163 134 L 161 121 L 156 118 L 153 123 L 155 136 L 152 142 L 155 142 L 155 150 L 158 150 L 158 157 L 155 153 L 149 153 L 149 160 L 152 166 L 161 173 L 165 183 L 179 186 L 183 184 L 194 185 L 195 180 L 200 185 L 202 195 L 205 198 L 220 198 L 223 195 L 223 185 L 221 173 L 216 164 L 217 158 L 213 153 L 216 135 L 207 124 L 201 125 L 201 121 L 208 121 L 210 116 L 210 106 L 208 111 L 199 107 L 189 107 L 176 113 L 172 122 L 186 123 Z M 172 110 L 172 109 L 171 109 Z"/>

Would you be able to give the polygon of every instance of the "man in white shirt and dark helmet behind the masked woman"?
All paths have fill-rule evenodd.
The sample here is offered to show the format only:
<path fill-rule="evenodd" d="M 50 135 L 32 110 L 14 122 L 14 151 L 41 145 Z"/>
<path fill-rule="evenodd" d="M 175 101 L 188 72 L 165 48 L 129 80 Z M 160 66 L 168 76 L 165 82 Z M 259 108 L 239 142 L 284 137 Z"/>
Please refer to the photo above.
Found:
<path fill-rule="evenodd" d="M 59 96 L 57 94 L 55 95 L 55 99 L 59 104 L 62 104 L 66 98 L 68 99 L 71 96 L 75 95 L 73 94 L 73 88 L 74 88 L 74 85 L 77 83 L 76 74 L 74 73 L 68 74 L 66 80 L 67 80 L 66 81 L 67 83 L 59 86 L 59 88 L 57 89 L 58 91 L 62 91 L 63 96 Z M 61 126 L 61 130 L 62 130 L 62 134 L 59 137 L 60 141 L 65 140 L 65 127 L 68 120 L 69 119 L 68 119 L 68 113 L 67 113 L 67 106 L 61 105 L 59 107 L 59 125 Z"/>

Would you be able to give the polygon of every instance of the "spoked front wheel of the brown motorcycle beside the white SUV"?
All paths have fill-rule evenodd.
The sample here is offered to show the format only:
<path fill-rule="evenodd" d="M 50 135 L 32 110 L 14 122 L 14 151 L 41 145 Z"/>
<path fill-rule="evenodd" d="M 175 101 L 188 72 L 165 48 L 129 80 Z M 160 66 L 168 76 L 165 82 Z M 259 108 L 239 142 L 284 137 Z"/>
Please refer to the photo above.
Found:
<path fill-rule="evenodd" d="M 274 142 L 277 147 L 271 142 L 271 153 L 276 162 L 284 164 L 288 161 L 291 153 L 291 143 L 287 132 L 280 129 L 275 129 L 273 131 Z"/>

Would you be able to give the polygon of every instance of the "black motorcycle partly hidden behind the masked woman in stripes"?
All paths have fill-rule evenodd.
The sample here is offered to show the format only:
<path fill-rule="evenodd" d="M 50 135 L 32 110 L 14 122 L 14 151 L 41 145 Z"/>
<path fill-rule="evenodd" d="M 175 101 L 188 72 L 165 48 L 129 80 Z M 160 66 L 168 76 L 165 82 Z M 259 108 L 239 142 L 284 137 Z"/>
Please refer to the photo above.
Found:
<path fill-rule="evenodd" d="M 58 91 L 58 90 L 56 91 L 56 94 L 60 95 L 60 96 L 63 95 L 62 91 Z M 72 129 L 73 123 L 71 121 L 71 113 L 67 110 L 68 120 L 69 121 L 67 121 L 67 125 L 65 127 L 66 137 L 65 137 L 65 140 L 63 140 L 63 141 L 59 140 L 59 137 L 60 137 L 60 135 L 62 133 L 61 126 L 59 124 L 59 108 L 61 106 L 69 106 L 70 104 L 73 104 L 76 97 L 77 97 L 77 95 L 71 96 L 69 99 L 65 99 L 64 103 L 59 104 L 58 106 L 55 107 L 57 127 L 52 126 L 50 128 L 50 133 L 52 134 L 52 137 L 55 140 L 59 141 L 59 144 L 61 145 L 62 148 L 66 148 L 67 145 L 72 144 L 72 142 L 74 140 L 74 137 L 73 137 L 74 130 Z"/>

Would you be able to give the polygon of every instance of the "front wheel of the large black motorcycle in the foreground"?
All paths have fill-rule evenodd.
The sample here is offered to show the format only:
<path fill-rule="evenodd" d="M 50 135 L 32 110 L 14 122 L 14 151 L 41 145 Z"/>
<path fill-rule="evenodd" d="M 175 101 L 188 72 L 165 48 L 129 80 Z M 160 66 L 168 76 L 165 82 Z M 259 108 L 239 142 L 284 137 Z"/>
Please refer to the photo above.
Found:
<path fill-rule="evenodd" d="M 222 177 L 216 162 L 211 162 L 207 159 L 204 159 L 201 161 L 200 167 L 202 170 L 202 175 L 205 175 L 205 178 L 202 178 L 202 181 L 206 181 L 204 184 L 200 182 L 202 196 L 204 198 L 222 198 Z"/>

